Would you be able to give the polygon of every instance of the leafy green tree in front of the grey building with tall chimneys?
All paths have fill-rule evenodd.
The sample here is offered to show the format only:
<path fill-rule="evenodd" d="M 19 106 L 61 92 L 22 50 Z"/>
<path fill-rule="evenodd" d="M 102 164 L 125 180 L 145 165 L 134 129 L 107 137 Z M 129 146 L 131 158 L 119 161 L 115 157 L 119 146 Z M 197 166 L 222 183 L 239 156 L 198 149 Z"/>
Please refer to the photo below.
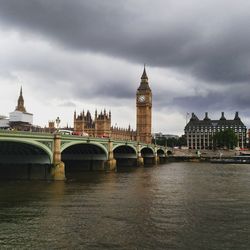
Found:
<path fill-rule="evenodd" d="M 216 132 L 213 136 L 214 148 L 233 149 L 238 144 L 237 135 L 232 129 L 225 129 L 224 131 Z"/>

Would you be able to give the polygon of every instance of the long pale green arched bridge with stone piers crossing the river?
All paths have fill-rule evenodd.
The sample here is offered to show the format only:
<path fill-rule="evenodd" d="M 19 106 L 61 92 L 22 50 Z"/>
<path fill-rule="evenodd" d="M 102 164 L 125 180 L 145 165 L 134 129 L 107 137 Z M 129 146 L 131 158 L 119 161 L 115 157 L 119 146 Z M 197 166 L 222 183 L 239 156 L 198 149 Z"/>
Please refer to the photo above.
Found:
<path fill-rule="evenodd" d="M 67 170 L 112 171 L 119 166 L 164 162 L 170 149 L 137 141 L 24 131 L 0 131 L 0 166 L 40 168 L 46 178 L 64 180 Z M 65 171 L 66 169 L 66 171 Z"/>

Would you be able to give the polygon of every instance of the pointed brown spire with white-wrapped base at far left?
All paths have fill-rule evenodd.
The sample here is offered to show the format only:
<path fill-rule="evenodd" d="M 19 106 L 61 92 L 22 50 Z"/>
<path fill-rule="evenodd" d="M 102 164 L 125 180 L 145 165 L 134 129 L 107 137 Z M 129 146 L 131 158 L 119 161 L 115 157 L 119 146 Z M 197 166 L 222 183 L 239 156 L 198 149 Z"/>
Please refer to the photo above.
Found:
<path fill-rule="evenodd" d="M 33 123 L 33 114 L 26 112 L 22 87 L 15 111 L 10 113 L 9 126 L 17 130 L 30 130 Z"/>

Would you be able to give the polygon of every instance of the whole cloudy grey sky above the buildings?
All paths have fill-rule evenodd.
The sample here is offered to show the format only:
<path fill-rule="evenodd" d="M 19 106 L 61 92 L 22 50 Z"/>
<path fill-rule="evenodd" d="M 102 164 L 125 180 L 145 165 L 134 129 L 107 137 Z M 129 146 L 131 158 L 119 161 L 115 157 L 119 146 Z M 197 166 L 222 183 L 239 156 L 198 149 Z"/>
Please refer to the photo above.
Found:
<path fill-rule="evenodd" d="M 136 127 L 143 65 L 152 132 L 184 133 L 194 112 L 250 126 L 250 1 L 0 0 L 0 115 L 20 87 L 33 123 L 111 110 Z"/>

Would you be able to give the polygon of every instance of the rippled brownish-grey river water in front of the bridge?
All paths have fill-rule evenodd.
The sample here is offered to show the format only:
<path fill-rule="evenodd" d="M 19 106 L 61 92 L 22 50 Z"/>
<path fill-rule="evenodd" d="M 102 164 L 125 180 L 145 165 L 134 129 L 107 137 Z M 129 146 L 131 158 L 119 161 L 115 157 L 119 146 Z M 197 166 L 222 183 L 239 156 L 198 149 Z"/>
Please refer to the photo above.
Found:
<path fill-rule="evenodd" d="M 250 249 L 250 165 L 1 181 L 0 249 Z"/>

